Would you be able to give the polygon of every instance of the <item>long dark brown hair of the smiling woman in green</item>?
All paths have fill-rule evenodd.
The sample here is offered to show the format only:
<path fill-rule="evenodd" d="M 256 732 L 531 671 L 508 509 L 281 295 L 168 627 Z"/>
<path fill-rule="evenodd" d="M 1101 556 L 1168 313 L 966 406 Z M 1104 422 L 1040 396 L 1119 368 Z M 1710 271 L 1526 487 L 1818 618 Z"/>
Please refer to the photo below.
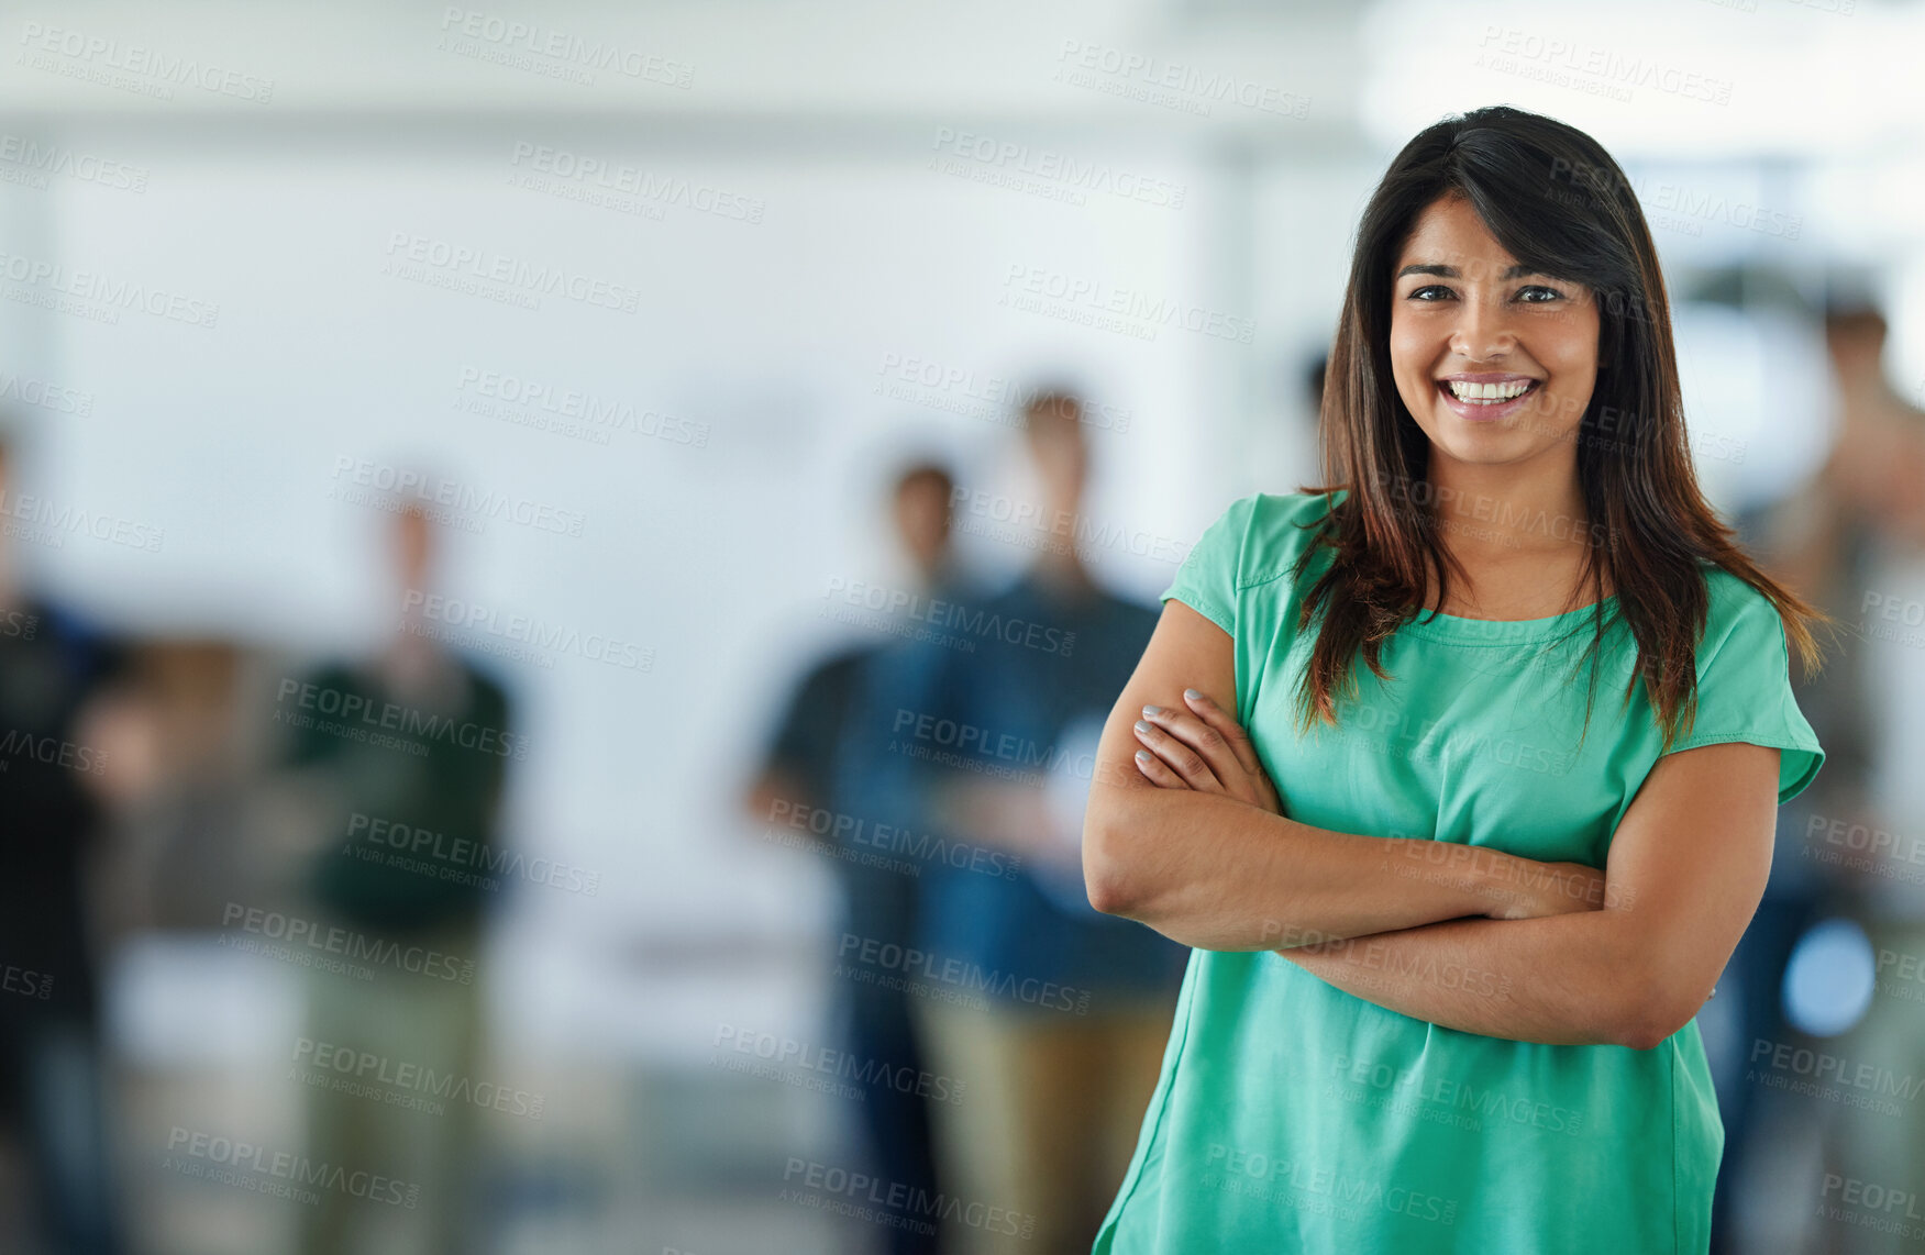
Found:
<path fill-rule="evenodd" d="M 1438 601 L 1455 570 L 1440 541 L 1428 485 L 1428 437 L 1390 373 L 1392 268 L 1438 198 L 1459 194 L 1517 262 L 1586 285 L 1598 302 L 1598 381 L 1577 433 L 1577 475 L 1598 543 L 1584 547 L 1578 587 L 1596 595 L 1596 658 L 1607 629 L 1625 624 L 1638 645 L 1638 679 L 1665 730 L 1663 749 L 1698 712 L 1696 649 L 1709 616 L 1702 562 L 1763 593 L 1784 622 L 1806 670 L 1821 666 L 1808 622 L 1831 622 L 1773 583 L 1732 543 L 1698 489 L 1684 435 L 1671 312 L 1657 248 L 1617 162 L 1577 127 L 1507 106 L 1473 110 L 1419 133 L 1390 164 L 1363 212 L 1349 289 L 1324 383 L 1322 487 L 1344 489 L 1297 564 L 1332 552 L 1303 601 L 1297 628 L 1321 616 L 1299 689 L 1299 718 L 1336 724 L 1355 695 L 1357 653 L 1378 679 L 1384 641 L 1424 604 L 1428 572 Z M 1617 608 L 1605 614 L 1605 576 Z M 1592 666 L 1590 697 L 1598 668 Z M 1590 724 L 1590 697 L 1584 704 Z"/>

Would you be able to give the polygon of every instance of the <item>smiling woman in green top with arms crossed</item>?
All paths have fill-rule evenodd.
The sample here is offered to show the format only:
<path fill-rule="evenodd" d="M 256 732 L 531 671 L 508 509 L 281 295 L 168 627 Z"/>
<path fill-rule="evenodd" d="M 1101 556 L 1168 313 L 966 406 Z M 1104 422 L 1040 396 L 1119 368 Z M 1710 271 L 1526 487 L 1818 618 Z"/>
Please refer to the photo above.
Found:
<path fill-rule="evenodd" d="M 1704 1251 L 1692 1016 L 1823 762 L 1817 651 L 1698 491 L 1596 141 L 1398 154 L 1322 429 L 1336 487 L 1230 504 L 1103 731 L 1090 901 L 1195 953 L 1095 1249 Z"/>

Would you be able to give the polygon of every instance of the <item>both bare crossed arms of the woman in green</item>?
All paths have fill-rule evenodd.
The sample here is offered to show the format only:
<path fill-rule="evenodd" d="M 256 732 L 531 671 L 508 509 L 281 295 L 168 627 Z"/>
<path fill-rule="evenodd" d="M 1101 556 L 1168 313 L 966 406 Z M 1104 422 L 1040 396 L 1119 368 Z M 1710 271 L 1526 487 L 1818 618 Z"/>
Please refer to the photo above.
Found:
<path fill-rule="evenodd" d="M 1084 878 L 1099 910 L 1199 949 L 1276 949 L 1378 1007 L 1517 1041 L 1652 1049 L 1711 995 L 1771 870 L 1779 751 L 1659 758 L 1604 874 L 1459 845 L 1432 862 L 1430 841 L 1276 812 L 1247 735 L 1207 697 L 1234 695 L 1230 649 L 1165 602 L 1097 749 Z M 1394 874 L 1411 866 L 1424 876 Z"/>

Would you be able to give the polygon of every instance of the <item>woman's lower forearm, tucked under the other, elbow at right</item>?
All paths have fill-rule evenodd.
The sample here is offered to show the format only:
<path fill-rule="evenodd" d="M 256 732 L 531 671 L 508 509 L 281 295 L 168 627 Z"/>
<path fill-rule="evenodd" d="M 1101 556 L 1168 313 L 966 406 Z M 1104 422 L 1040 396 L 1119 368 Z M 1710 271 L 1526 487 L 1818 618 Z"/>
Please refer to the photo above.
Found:
<path fill-rule="evenodd" d="M 1467 1034 L 1640 1049 L 1667 1036 L 1623 910 L 1450 920 L 1282 955 L 1346 993 Z"/>

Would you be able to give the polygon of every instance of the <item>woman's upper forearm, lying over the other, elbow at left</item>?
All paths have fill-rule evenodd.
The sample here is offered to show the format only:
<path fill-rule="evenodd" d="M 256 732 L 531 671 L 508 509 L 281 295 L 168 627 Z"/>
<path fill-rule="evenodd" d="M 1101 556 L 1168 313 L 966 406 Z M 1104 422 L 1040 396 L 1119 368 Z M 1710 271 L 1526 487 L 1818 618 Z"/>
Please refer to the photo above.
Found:
<path fill-rule="evenodd" d="M 1519 885 L 1544 872 L 1492 849 L 1330 832 L 1149 785 L 1099 783 L 1084 828 L 1084 874 L 1097 909 L 1217 951 L 1502 914 Z"/>

